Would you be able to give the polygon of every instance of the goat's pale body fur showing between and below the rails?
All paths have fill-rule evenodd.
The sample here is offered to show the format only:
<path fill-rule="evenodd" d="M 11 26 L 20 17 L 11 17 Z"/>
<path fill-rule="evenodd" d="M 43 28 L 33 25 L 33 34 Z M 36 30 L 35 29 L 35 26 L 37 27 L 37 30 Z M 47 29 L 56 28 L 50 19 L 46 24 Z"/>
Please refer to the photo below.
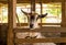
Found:
<path fill-rule="evenodd" d="M 29 34 L 30 32 L 25 32 L 25 33 L 19 33 L 18 35 L 16 35 L 16 37 L 18 38 L 24 38 L 25 36 L 36 36 L 37 35 L 37 37 L 36 38 L 45 38 L 45 36 L 42 36 L 41 35 L 41 33 L 35 33 L 35 32 L 31 32 L 30 34 Z M 29 45 L 30 43 L 23 43 L 23 44 L 20 44 L 20 45 Z M 56 45 L 56 44 L 54 44 L 54 43 L 33 43 L 32 45 Z"/>

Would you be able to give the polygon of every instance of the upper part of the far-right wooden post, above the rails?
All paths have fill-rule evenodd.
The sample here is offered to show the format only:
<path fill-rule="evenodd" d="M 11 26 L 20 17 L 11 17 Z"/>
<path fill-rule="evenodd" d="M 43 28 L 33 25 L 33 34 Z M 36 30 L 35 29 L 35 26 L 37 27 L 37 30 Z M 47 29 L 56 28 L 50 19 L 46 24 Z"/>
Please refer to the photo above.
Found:
<path fill-rule="evenodd" d="M 65 0 L 62 1 L 62 26 L 66 26 Z"/>

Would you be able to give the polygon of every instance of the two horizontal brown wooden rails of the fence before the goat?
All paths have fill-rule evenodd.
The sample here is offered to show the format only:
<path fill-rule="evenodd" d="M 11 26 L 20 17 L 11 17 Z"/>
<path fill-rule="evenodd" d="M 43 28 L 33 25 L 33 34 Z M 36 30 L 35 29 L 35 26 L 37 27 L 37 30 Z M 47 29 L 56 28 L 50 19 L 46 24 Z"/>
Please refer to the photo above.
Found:
<path fill-rule="evenodd" d="M 44 26 L 42 29 L 23 29 L 23 27 L 15 27 L 14 33 L 22 33 L 22 32 L 47 32 L 47 33 L 65 33 L 66 27 L 52 27 L 52 26 Z M 66 37 L 45 37 L 45 38 L 15 38 L 15 43 L 66 43 Z"/>

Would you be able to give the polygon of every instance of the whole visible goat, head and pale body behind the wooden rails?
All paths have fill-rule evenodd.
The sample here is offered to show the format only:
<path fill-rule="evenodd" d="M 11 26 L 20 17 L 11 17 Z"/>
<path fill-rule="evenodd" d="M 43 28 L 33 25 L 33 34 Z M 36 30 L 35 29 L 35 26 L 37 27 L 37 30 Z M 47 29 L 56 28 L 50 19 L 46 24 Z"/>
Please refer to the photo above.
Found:
<path fill-rule="evenodd" d="M 32 13 L 26 13 L 23 10 L 21 10 L 21 11 L 28 16 L 29 25 L 30 25 L 31 30 L 38 27 L 37 20 L 45 18 L 47 15 L 47 13 L 40 15 L 40 14 L 35 13 L 34 11 L 32 11 Z M 29 33 L 30 33 L 30 35 L 29 35 Z M 42 36 L 41 33 L 34 33 L 34 32 L 26 32 L 26 33 L 24 33 L 24 36 L 21 33 L 16 34 L 16 35 L 19 38 L 45 38 L 45 36 Z M 54 44 L 54 43 L 34 43 L 34 44 L 23 43 L 20 45 L 56 45 L 56 44 Z"/>

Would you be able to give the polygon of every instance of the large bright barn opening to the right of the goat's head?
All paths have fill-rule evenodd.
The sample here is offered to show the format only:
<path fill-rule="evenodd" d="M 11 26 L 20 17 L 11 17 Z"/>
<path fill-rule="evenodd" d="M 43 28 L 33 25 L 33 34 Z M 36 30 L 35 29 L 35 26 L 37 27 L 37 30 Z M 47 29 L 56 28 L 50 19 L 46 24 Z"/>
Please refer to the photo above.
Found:
<path fill-rule="evenodd" d="M 43 13 L 48 15 L 42 19 L 42 23 L 61 23 L 62 22 L 62 5 L 61 3 L 43 3 Z"/>

